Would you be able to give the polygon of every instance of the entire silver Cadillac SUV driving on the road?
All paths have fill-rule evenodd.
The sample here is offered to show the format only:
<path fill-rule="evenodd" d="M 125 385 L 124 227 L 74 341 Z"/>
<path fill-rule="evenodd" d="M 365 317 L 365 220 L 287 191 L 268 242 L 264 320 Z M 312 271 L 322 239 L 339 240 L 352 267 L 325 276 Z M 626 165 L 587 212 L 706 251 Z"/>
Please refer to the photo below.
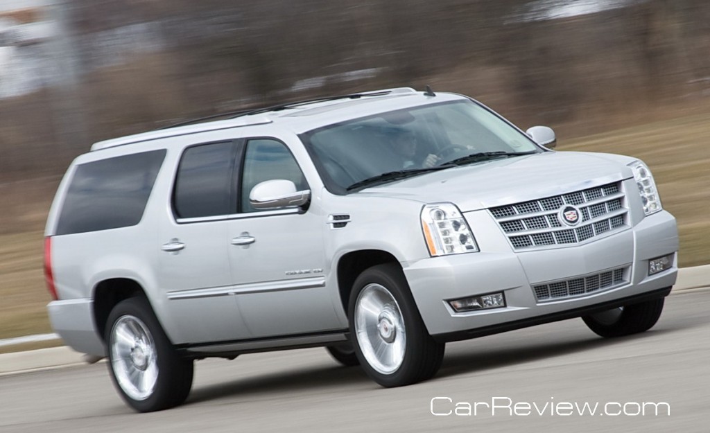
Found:
<path fill-rule="evenodd" d="M 208 356 L 326 346 L 399 386 L 447 341 L 572 317 L 645 331 L 675 220 L 640 160 L 554 144 L 408 88 L 96 143 L 48 218 L 51 322 L 138 411 L 185 401 Z"/>

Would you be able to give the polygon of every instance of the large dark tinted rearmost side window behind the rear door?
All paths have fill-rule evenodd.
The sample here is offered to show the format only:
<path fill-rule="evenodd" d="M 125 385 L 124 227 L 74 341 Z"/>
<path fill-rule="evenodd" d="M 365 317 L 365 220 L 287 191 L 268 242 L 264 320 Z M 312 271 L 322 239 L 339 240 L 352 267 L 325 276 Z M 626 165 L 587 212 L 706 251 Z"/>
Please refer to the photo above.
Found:
<path fill-rule="evenodd" d="M 77 166 L 56 234 L 138 224 L 164 158 L 165 150 L 153 150 Z"/>

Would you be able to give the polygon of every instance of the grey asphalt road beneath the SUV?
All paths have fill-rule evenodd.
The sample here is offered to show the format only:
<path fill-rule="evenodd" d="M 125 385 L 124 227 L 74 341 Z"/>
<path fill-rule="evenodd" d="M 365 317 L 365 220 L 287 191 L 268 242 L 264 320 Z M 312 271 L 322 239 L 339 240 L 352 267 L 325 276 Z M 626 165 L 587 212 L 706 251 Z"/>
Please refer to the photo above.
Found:
<path fill-rule="evenodd" d="M 576 319 L 449 344 L 433 380 L 404 388 L 323 349 L 200 361 L 186 404 L 152 414 L 124 405 L 105 363 L 4 376 L 0 432 L 706 433 L 709 310 L 710 291 L 682 292 L 638 336 L 601 339 Z M 432 415 L 433 398 L 451 415 Z"/>

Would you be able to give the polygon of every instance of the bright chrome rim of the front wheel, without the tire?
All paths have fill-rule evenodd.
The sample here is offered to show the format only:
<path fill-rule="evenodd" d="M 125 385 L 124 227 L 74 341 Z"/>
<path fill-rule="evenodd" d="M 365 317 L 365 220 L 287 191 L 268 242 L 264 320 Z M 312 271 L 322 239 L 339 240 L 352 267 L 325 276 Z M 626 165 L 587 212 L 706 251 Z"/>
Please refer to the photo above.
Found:
<path fill-rule="evenodd" d="M 384 286 L 369 284 L 355 304 L 355 332 L 368 364 L 390 374 L 404 361 L 407 331 L 397 301 Z"/>

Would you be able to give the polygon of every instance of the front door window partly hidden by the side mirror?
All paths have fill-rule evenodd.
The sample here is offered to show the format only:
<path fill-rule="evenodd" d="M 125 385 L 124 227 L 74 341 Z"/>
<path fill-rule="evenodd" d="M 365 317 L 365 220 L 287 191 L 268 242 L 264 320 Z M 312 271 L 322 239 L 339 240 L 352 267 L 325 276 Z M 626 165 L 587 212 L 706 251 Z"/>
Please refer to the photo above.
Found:
<path fill-rule="evenodd" d="M 249 192 L 258 183 L 273 179 L 290 180 L 298 191 L 308 188 L 298 163 L 285 144 L 268 139 L 250 140 L 244 158 L 241 212 L 258 212 L 259 209 L 249 204 Z"/>

